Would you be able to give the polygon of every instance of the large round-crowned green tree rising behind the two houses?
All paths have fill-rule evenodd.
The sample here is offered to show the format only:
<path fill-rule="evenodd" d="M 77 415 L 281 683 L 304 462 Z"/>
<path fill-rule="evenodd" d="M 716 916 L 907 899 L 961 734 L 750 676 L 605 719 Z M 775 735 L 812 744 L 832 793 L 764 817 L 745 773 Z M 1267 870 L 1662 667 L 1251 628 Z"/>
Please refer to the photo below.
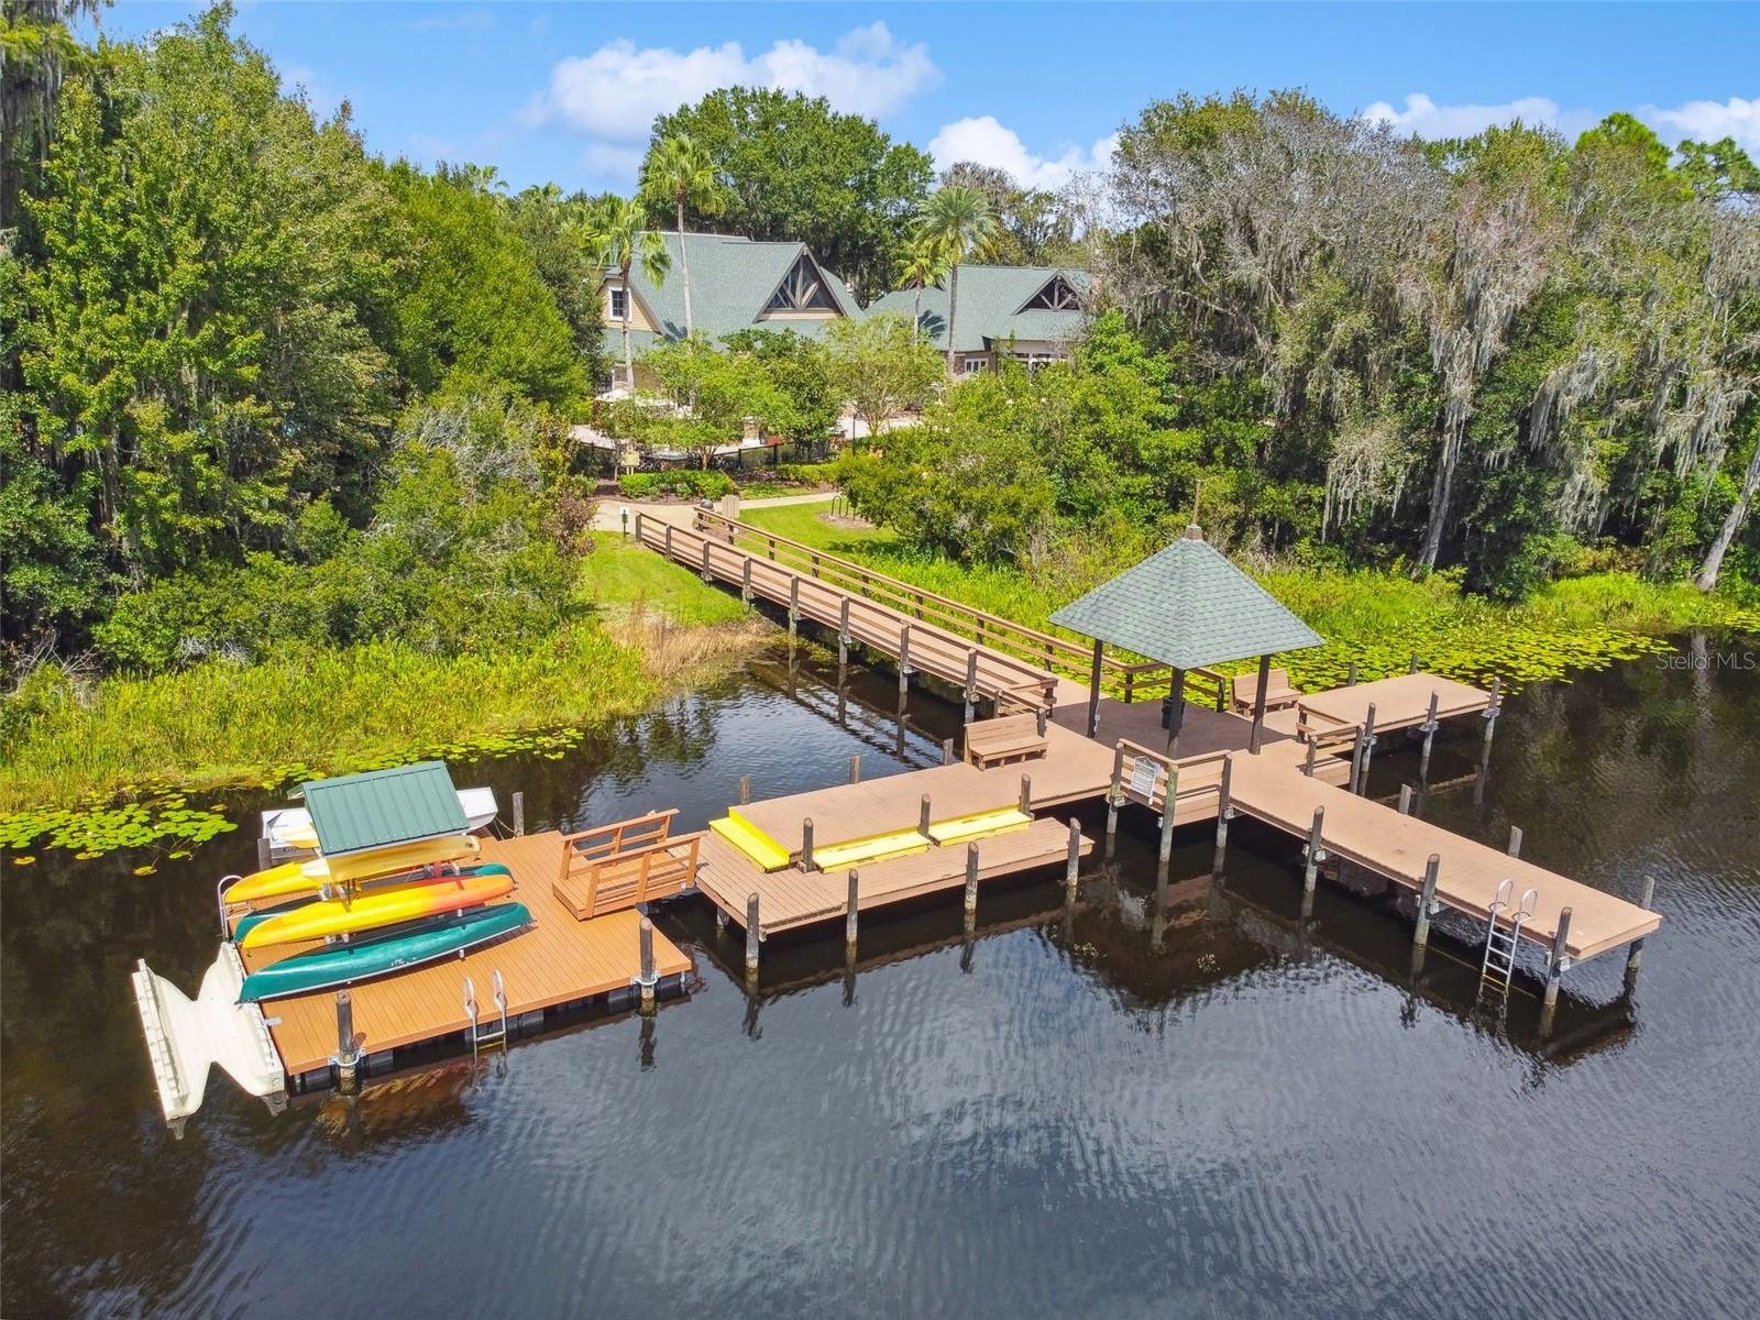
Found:
<path fill-rule="evenodd" d="M 655 143 L 676 134 L 727 181 L 729 231 L 803 241 L 864 301 L 885 292 L 933 180 L 928 155 L 824 97 L 769 88 L 722 88 L 655 120 Z"/>

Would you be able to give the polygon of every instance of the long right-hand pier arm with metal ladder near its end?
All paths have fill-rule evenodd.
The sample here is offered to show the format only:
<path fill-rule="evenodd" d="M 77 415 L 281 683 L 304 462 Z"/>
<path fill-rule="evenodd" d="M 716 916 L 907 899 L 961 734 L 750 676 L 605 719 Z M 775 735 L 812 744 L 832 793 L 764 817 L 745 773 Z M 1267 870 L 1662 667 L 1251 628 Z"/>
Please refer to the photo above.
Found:
<path fill-rule="evenodd" d="M 1436 855 L 1436 901 L 1478 920 L 1491 919 L 1498 887 L 1505 880 L 1512 882 L 1517 898 L 1528 889 L 1536 891 L 1533 915 L 1522 924 L 1522 936 L 1551 949 L 1559 931 L 1559 913 L 1570 908 L 1563 952 L 1573 963 L 1642 940 L 1661 926 L 1660 915 L 1637 903 L 1309 778 L 1283 752 L 1283 744 L 1257 757 L 1236 755 L 1230 787 L 1237 811 L 1297 838 L 1309 834 L 1315 811 L 1324 810 L 1320 838 L 1329 855 L 1355 862 L 1406 889 L 1422 889 L 1426 864 Z"/>

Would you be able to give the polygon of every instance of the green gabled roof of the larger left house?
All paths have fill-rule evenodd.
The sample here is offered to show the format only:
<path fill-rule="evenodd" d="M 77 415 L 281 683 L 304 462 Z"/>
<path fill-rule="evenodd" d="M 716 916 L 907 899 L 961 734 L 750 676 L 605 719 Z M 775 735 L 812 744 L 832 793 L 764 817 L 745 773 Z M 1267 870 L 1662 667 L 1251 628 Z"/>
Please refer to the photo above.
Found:
<path fill-rule="evenodd" d="M 685 271 L 679 262 L 678 234 L 662 234 L 672 259 L 665 280 L 655 285 L 637 262 L 630 285 L 641 306 L 660 327 L 658 334 L 632 331 L 635 352 L 656 338 L 685 338 Z M 855 296 L 827 271 L 804 243 L 762 243 L 730 234 L 685 234 L 690 252 L 690 312 L 697 333 L 711 340 L 743 329 L 794 329 L 815 333 L 824 322 L 811 319 L 771 320 L 764 308 L 799 260 L 808 260 L 822 276 L 836 312 L 861 315 Z M 616 275 L 616 271 L 607 271 Z M 605 317 L 605 341 L 621 343 L 623 326 Z"/>

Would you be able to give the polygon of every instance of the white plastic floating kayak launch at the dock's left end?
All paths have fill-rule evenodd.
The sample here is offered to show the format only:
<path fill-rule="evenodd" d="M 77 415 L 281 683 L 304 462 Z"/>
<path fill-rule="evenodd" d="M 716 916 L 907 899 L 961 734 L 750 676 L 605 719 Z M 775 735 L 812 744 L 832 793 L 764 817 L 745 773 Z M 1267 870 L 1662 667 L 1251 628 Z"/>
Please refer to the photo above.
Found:
<path fill-rule="evenodd" d="M 238 1001 L 245 966 L 232 945 L 220 945 L 194 1000 L 155 975 L 146 959 L 136 964 L 132 980 L 158 1107 L 178 1137 L 190 1114 L 201 1109 L 215 1063 L 248 1095 L 262 1098 L 271 1114 L 287 1107 L 287 1074 L 262 1008 Z"/>

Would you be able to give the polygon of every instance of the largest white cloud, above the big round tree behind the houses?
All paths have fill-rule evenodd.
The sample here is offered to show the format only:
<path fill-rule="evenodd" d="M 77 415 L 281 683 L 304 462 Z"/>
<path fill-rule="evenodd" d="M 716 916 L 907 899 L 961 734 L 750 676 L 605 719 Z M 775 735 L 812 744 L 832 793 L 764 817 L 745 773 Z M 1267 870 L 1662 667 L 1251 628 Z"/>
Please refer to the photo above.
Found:
<path fill-rule="evenodd" d="M 558 60 L 549 88 L 526 111 L 528 123 L 558 123 L 586 137 L 639 143 L 656 114 L 723 86 L 767 86 L 825 97 L 852 114 L 891 114 L 942 81 L 926 46 L 899 42 L 885 23 L 840 37 L 829 51 L 778 40 L 746 56 L 736 42 L 674 51 L 611 40 L 591 55 Z"/>

